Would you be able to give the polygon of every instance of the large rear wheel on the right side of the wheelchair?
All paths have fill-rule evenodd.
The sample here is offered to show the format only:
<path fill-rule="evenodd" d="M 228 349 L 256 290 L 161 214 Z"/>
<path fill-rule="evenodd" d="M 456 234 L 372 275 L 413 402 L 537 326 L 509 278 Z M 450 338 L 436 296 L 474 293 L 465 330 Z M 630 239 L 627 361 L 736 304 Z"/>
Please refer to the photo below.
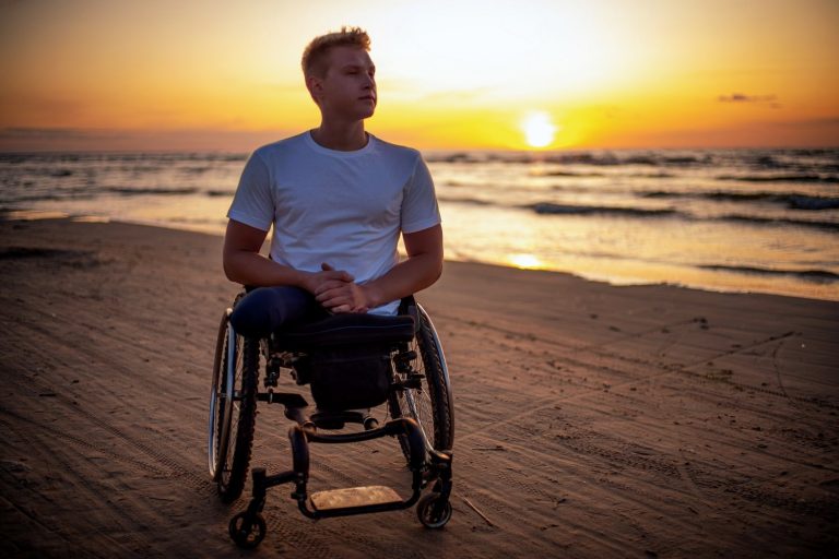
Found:
<path fill-rule="evenodd" d="M 446 357 L 428 313 L 420 304 L 416 309 L 420 324 L 411 349 L 416 353 L 412 368 L 422 374 L 421 383 L 391 393 L 388 406 L 392 417 L 410 417 L 420 425 L 428 450 L 450 450 L 454 443 L 454 411 Z M 400 437 L 399 442 L 410 460 L 407 441 Z"/>

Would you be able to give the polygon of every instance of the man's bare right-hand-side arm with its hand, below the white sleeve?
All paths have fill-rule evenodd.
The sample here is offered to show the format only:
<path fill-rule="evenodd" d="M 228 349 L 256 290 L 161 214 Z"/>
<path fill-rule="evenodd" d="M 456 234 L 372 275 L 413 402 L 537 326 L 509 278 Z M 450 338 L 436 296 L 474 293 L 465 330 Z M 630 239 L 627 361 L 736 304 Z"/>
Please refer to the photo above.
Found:
<path fill-rule="evenodd" d="M 403 235 L 407 260 L 364 285 L 327 281 L 316 288 L 318 301 L 333 312 L 367 312 L 433 285 L 442 273 L 442 227 Z"/>

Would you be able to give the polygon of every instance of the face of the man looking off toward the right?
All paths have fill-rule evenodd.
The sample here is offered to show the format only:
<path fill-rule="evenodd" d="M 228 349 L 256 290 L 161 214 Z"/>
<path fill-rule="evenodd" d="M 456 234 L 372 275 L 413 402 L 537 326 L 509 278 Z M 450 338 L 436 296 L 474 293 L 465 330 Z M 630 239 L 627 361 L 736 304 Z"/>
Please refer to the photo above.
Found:
<path fill-rule="evenodd" d="M 362 120 L 376 110 L 376 67 L 370 56 L 357 47 L 330 49 L 323 79 L 316 79 L 314 95 L 324 116 Z"/>

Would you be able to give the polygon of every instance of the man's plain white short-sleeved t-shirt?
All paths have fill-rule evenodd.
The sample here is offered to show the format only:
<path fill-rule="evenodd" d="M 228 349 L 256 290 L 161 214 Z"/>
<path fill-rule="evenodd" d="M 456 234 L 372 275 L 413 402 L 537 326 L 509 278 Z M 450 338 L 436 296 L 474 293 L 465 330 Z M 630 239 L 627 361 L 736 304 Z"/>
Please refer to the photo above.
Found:
<path fill-rule="evenodd" d="M 304 132 L 248 159 L 227 217 L 268 231 L 271 259 L 307 272 L 321 262 L 364 284 L 399 262 L 400 231 L 440 223 L 420 152 L 368 134 L 354 152 L 328 150 Z M 399 301 L 370 312 L 393 314 Z"/>

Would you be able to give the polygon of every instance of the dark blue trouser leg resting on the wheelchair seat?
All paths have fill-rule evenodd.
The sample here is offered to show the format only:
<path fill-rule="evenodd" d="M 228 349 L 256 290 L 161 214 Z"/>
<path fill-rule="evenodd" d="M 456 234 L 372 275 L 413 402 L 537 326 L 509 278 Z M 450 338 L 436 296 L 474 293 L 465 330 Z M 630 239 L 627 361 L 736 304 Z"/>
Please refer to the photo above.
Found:
<path fill-rule="evenodd" d="M 258 287 L 236 305 L 231 323 L 241 335 L 265 337 L 285 324 L 327 316 L 315 296 L 299 287 Z"/>

